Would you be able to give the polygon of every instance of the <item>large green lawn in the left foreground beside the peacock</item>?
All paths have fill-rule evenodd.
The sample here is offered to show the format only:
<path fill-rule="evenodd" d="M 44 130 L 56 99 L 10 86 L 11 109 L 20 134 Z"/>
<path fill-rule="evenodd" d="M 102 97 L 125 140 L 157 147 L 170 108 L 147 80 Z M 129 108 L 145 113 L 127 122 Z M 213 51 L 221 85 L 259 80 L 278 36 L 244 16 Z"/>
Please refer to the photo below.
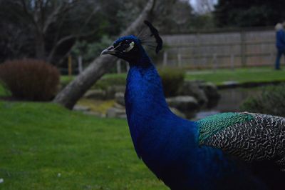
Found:
<path fill-rule="evenodd" d="M 0 101 L 0 189 L 167 189 L 138 159 L 123 119 Z"/>

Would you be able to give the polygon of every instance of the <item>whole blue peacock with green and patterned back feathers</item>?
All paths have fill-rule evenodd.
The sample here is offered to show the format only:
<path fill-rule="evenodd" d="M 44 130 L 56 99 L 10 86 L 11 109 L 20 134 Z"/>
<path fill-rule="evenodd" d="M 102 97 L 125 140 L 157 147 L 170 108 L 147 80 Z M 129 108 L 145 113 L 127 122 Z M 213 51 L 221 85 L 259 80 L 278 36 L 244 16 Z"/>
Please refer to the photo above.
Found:
<path fill-rule="evenodd" d="M 125 109 L 138 157 L 172 190 L 285 189 L 285 119 L 230 112 L 188 121 L 173 114 L 144 48 L 158 53 L 162 39 L 145 24 L 148 33 L 120 37 L 101 53 L 130 64 Z"/>

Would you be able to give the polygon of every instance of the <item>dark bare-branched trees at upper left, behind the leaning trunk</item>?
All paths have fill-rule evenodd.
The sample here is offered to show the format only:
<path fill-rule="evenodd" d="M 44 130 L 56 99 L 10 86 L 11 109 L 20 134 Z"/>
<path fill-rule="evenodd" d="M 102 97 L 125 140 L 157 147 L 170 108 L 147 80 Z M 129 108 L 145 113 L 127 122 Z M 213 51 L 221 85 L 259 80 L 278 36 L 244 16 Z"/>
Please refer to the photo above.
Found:
<path fill-rule="evenodd" d="M 118 0 L 0 0 L 0 61 L 32 57 L 61 64 L 76 41 L 118 34 L 122 7 Z"/>

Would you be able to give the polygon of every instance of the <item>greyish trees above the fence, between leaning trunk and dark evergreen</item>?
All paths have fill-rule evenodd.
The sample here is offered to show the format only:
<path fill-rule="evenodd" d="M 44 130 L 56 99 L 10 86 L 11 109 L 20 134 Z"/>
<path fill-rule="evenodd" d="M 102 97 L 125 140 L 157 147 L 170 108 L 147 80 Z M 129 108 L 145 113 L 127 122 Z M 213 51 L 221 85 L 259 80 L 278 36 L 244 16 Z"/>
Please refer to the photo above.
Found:
<path fill-rule="evenodd" d="M 157 14 L 155 26 L 162 34 L 181 34 L 197 31 L 197 29 L 214 28 L 212 16 L 212 0 L 197 1 L 196 11 L 187 0 L 168 0 Z M 167 6 L 168 5 L 168 6 Z M 202 11 L 198 11 L 202 10 Z"/>

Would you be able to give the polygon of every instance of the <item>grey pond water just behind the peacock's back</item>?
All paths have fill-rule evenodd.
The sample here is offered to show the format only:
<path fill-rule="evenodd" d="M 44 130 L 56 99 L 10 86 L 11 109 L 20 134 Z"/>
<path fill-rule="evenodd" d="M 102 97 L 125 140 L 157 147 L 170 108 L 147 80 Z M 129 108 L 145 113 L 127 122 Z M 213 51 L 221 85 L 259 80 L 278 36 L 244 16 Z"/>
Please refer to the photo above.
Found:
<path fill-rule="evenodd" d="M 260 88 L 235 88 L 219 90 L 221 98 L 217 106 L 211 109 L 202 109 L 195 115 L 195 120 L 221 112 L 241 111 L 240 106 L 249 96 L 256 96 L 261 91 Z"/>

